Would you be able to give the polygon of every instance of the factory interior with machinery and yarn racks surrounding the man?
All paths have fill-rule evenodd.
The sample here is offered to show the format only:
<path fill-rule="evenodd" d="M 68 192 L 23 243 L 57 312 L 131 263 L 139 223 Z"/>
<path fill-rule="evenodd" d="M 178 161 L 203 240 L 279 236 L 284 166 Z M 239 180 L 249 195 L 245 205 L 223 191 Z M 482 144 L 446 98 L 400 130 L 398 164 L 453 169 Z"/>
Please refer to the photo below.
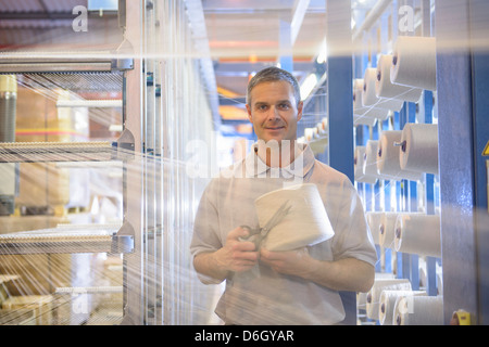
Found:
<path fill-rule="evenodd" d="M 246 87 L 276 65 L 301 83 L 299 140 L 354 182 L 376 242 L 376 283 L 343 293 L 346 323 L 487 324 L 488 13 L 0 0 L 0 323 L 220 324 L 222 288 L 191 269 L 192 220 L 256 139 Z M 388 94 L 389 79 L 380 95 L 393 56 L 408 89 Z"/>

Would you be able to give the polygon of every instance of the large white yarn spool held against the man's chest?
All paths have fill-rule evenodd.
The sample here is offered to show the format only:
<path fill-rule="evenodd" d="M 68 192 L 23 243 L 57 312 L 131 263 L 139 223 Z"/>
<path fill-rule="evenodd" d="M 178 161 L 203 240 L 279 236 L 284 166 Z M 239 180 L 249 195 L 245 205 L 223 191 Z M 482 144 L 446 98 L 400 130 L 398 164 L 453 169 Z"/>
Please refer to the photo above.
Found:
<path fill-rule="evenodd" d="M 326 241 L 335 234 L 316 184 L 304 183 L 266 193 L 254 205 L 263 228 L 288 202 L 289 213 L 268 231 L 262 246 L 269 250 L 291 250 Z"/>

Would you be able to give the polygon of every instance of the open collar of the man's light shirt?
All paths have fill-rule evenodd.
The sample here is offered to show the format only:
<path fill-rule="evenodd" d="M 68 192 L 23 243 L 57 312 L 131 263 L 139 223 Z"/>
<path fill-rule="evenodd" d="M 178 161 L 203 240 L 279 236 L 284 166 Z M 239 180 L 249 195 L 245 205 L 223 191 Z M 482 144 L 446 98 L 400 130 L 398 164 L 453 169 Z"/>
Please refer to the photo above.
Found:
<path fill-rule="evenodd" d="M 256 177 L 264 175 L 268 170 L 284 170 L 289 175 L 303 178 L 311 168 L 314 166 L 314 153 L 311 147 L 305 143 L 298 143 L 301 153 L 296 157 L 296 159 L 288 166 L 283 168 L 271 168 L 264 163 L 260 156 L 254 153 L 256 143 L 251 146 L 250 153 L 244 159 L 247 177 Z"/>

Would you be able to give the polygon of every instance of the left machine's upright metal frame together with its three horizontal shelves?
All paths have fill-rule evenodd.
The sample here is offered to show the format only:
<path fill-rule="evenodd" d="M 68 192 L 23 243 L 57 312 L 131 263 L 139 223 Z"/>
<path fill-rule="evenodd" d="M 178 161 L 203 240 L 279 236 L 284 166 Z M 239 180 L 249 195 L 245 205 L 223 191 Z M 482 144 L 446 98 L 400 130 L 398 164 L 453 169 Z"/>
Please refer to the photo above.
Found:
<path fill-rule="evenodd" d="M 20 254 L 122 253 L 122 324 L 203 324 L 212 314 L 206 306 L 214 293 L 200 286 L 187 255 L 198 196 L 210 176 L 188 175 L 187 160 L 193 153 L 188 153 L 187 145 L 200 141 L 213 149 L 220 115 L 202 4 L 120 1 L 118 16 L 124 41 L 117 52 L 92 52 L 83 59 L 2 53 L 0 73 L 122 74 L 123 131 L 117 141 L 98 143 L 91 153 L 86 151 L 87 143 L 27 145 L 32 155 L 46 159 L 50 153 L 49 160 L 54 162 L 121 160 L 122 227 L 79 240 L 57 239 L 48 232 L 30 239 L 21 233 L 0 242 L 3 250 Z M 0 152 L 20 162 L 25 147 L 15 143 L 0 146 Z M 204 165 L 210 168 L 213 163 Z"/>

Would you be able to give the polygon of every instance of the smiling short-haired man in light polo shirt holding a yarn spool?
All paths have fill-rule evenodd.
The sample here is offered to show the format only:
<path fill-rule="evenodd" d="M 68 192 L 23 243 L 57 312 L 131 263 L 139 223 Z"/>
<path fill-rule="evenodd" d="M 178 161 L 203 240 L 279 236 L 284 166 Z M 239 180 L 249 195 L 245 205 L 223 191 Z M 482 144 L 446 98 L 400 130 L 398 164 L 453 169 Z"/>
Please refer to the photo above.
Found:
<path fill-rule="evenodd" d="M 297 143 L 302 107 L 291 74 L 276 67 L 259 72 L 247 95 L 259 142 L 233 175 L 210 182 L 199 205 L 193 265 L 204 283 L 226 281 L 216 307 L 226 324 L 338 323 L 344 318 L 338 291 L 367 292 L 373 285 L 377 256 L 361 201 L 344 175 Z M 240 227 L 258 224 L 254 200 L 298 179 L 317 185 L 335 235 L 290 252 L 256 249 Z"/>

